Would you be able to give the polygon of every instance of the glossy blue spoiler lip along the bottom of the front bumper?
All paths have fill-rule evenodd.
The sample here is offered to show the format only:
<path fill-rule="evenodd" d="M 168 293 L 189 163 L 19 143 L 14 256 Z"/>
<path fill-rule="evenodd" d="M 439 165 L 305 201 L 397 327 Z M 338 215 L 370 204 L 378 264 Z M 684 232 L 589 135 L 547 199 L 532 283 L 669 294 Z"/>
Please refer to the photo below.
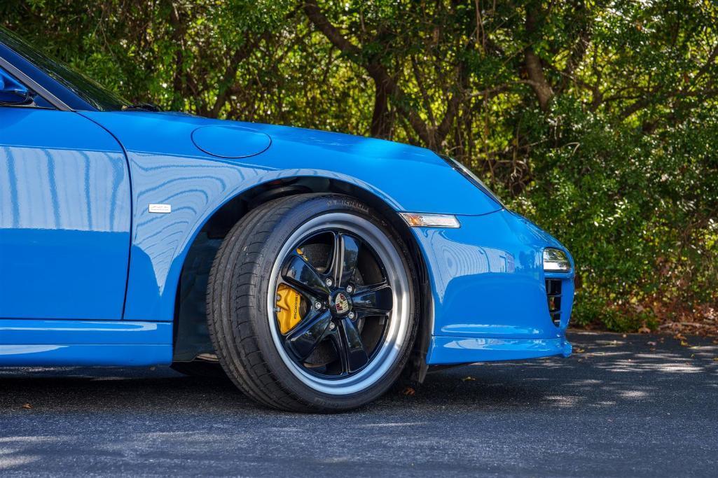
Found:
<path fill-rule="evenodd" d="M 572 345 L 556 339 L 498 339 L 486 337 L 432 337 L 427 365 L 451 365 L 498 360 L 525 360 L 560 355 L 569 357 Z"/>

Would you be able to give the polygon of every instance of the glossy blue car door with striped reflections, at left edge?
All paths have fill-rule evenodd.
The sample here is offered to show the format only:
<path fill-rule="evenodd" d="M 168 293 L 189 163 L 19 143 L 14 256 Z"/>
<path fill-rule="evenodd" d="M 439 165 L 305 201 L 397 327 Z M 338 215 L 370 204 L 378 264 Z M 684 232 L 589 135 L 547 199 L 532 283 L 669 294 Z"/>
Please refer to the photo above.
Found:
<path fill-rule="evenodd" d="M 130 221 L 113 136 L 73 111 L 0 105 L 0 319 L 121 319 Z"/>

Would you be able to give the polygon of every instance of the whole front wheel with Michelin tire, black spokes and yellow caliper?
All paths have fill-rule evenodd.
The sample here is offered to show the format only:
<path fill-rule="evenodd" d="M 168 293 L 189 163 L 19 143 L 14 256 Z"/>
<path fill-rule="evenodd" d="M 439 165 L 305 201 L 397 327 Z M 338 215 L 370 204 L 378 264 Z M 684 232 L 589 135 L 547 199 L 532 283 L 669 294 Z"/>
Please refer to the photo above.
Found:
<path fill-rule="evenodd" d="M 246 395 L 345 411 L 396 381 L 416 335 L 416 272 L 392 226 L 351 197 L 299 195 L 230 231 L 208 286 L 210 336 Z"/>

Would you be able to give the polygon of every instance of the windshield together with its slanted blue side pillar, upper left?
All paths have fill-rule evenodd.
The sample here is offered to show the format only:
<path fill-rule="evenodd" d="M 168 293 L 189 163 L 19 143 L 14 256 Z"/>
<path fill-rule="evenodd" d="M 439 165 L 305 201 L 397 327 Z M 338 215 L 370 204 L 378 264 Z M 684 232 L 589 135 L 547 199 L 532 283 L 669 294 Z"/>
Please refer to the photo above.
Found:
<path fill-rule="evenodd" d="M 16 70 L 55 108 L 70 111 L 121 111 L 130 103 L 64 62 L 45 55 L 13 32 L 0 27 L 0 63 Z"/>

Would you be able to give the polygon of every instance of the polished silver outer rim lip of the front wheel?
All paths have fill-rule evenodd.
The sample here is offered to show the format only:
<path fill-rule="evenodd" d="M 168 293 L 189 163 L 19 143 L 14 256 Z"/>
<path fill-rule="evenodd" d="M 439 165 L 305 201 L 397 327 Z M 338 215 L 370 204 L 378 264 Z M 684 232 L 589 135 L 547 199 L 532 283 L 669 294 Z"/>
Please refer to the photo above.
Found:
<path fill-rule="evenodd" d="M 286 254 L 289 253 L 289 250 L 296 247 L 304 238 L 326 229 L 340 229 L 354 233 L 373 248 L 386 269 L 387 278 L 392 288 L 394 304 L 384 342 L 368 365 L 357 374 L 351 375 L 348 378 L 331 380 L 312 375 L 294 363 L 292 358 L 287 355 L 286 350 L 284 350 L 284 345 L 279 339 L 280 334 L 276 327 L 276 317 L 274 317 L 276 280 L 279 276 L 279 268 L 281 267 L 282 260 Z M 391 370 L 391 367 L 398 359 L 401 346 L 404 344 L 407 334 L 409 334 L 410 300 L 409 277 L 407 276 L 401 255 L 391 239 L 376 225 L 363 217 L 347 212 L 329 212 L 312 217 L 312 219 L 300 225 L 284 242 L 279 254 L 277 254 L 269 278 L 267 319 L 269 320 L 269 329 L 271 330 L 276 351 L 279 353 L 284 365 L 292 372 L 292 375 L 301 380 L 304 385 L 307 385 L 317 392 L 327 393 L 329 395 L 350 395 L 352 393 L 359 393 L 376 384 L 378 380 Z"/>

